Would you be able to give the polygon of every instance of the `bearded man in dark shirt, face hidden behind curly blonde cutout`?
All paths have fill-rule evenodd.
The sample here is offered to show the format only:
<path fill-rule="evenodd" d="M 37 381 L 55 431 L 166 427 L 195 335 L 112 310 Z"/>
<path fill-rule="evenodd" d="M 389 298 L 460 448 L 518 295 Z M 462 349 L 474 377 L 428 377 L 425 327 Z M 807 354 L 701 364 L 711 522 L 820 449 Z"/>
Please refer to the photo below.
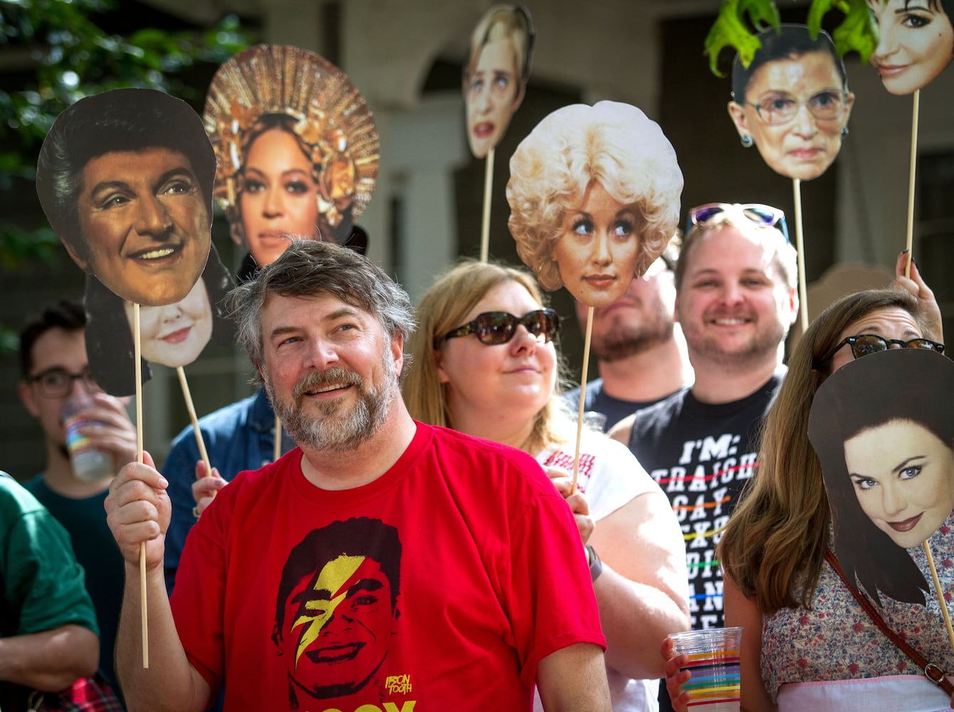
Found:
<path fill-rule="evenodd" d="M 626 294 L 609 306 L 593 309 L 591 351 L 599 378 L 587 384 L 584 408 L 606 416 L 604 430 L 693 383 L 693 366 L 681 327 L 675 325 L 675 262 L 678 239 L 666 246 Z M 576 319 L 585 331 L 589 307 L 576 303 Z M 573 411 L 580 389 L 566 394 Z"/>

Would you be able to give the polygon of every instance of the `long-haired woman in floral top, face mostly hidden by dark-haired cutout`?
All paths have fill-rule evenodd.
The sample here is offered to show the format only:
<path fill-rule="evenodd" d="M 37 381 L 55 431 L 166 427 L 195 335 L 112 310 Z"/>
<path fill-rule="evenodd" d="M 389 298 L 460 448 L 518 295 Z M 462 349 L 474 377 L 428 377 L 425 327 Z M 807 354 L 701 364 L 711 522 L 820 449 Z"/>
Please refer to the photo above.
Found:
<path fill-rule="evenodd" d="M 915 265 L 910 279 L 902 276 L 905 262 L 902 254 L 896 288 L 843 297 L 798 340 L 762 431 L 758 474 L 718 544 L 725 624 L 745 628 L 743 711 L 919 712 L 954 702 L 869 618 L 826 560 L 831 511 L 808 439 L 815 394 L 837 368 L 881 347 L 943 349 L 938 304 Z M 947 557 L 950 547 L 948 534 L 936 551 Z M 923 554 L 920 560 L 912 556 L 925 565 Z M 940 573 L 949 590 L 950 570 Z M 942 670 L 954 670 L 939 615 L 911 606 L 896 613 L 882 608 L 888 628 Z M 667 686 L 674 708 L 685 712 L 689 693 L 683 685 L 691 676 L 679 667 L 687 660 L 674 656 L 667 642 L 662 654 L 670 659 Z"/>

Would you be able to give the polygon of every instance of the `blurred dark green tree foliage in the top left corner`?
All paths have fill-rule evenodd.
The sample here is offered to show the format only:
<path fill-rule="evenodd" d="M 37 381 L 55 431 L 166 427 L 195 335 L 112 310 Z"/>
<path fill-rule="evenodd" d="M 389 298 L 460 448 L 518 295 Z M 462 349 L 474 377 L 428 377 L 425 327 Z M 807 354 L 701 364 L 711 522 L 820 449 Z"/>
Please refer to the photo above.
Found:
<path fill-rule="evenodd" d="M 0 123 L 0 191 L 35 179 L 43 138 L 78 99 L 143 87 L 200 104 L 205 88 L 190 87 L 183 74 L 197 63 L 221 64 L 248 46 L 234 16 L 207 31 L 142 29 L 125 37 L 103 31 L 96 17 L 117 8 L 114 0 L 0 0 L 0 52 L 25 65 L 19 89 L 0 91 L 6 119 Z M 0 220 L 0 269 L 49 261 L 57 243 L 45 223 Z"/>

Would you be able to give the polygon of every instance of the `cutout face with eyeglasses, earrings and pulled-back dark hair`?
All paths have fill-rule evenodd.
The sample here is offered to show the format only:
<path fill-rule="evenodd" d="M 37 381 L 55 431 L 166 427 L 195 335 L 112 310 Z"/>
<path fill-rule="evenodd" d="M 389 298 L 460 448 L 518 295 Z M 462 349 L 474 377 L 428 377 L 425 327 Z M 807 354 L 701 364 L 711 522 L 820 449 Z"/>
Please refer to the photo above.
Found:
<path fill-rule="evenodd" d="M 736 55 L 729 115 L 742 145 L 755 145 L 769 168 L 786 178 L 818 178 L 838 157 L 855 94 L 844 63 L 824 31 L 803 25 L 758 34 L 749 66 Z"/>

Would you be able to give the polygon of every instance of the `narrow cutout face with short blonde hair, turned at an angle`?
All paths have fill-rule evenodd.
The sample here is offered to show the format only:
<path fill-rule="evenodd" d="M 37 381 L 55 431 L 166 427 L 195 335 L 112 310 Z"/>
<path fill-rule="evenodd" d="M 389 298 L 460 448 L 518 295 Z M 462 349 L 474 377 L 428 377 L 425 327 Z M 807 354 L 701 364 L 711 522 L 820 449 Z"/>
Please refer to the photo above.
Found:
<path fill-rule="evenodd" d="M 519 5 L 490 8 L 474 28 L 464 67 L 467 143 L 474 157 L 487 157 L 500 143 L 524 99 L 533 38 L 529 10 Z"/>

